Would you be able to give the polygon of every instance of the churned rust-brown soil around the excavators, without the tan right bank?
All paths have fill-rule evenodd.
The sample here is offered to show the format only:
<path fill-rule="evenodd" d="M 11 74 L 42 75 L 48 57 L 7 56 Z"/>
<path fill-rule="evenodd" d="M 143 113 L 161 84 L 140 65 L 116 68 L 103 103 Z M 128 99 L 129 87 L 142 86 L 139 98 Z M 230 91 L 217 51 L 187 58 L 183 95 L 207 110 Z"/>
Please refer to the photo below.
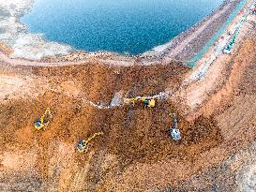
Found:
<path fill-rule="evenodd" d="M 2 179 L 14 178 L 2 185 L 2 189 L 92 191 L 100 189 L 109 175 L 122 174 L 131 164 L 165 159 L 192 162 L 221 142 L 220 131 L 212 119 L 201 116 L 194 123 L 188 123 L 181 115 L 178 121 L 183 138 L 173 142 L 169 114 L 179 114 L 179 111 L 169 101 L 158 101 L 154 109 L 137 105 L 107 110 L 94 108 L 84 101 L 109 104 L 114 93 L 120 91 L 126 96 L 140 96 L 158 94 L 166 88 L 175 89 L 188 71 L 184 66 L 20 66 L 9 71 L 5 74 L 37 77 L 34 87 L 39 93 L 38 96 L 7 98 L 1 103 L 0 146 L 2 159 L 6 162 L 2 171 L 14 168 L 2 174 Z M 48 81 L 45 92 L 37 87 L 38 80 Z M 53 113 L 50 125 L 44 131 L 33 129 L 34 122 L 47 107 Z M 76 151 L 78 141 L 98 131 L 103 131 L 104 135 L 92 141 L 88 154 L 79 154 Z M 10 157 L 12 152 L 14 155 Z M 15 152 L 23 153 L 19 156 Z M 25 173 L 33 168 L 37 182 L 30 179 L 26 185 L 17 185 L 20 177 L 29 180 L 22 175 L 15 179 L 12 172 L 18 171 L 13 165 L 17 161 L 28 161 L 26 154 L 33 159 L 18 170 L 23 168 Z M 13 162 L 6 158 L 12 158 Z M 77 181 L 83 185 L 74 185 L 75 172 L 85 169 L 85 165 L 87 176 Z M 33 185 L 28 186 L 29 183 Z"/>

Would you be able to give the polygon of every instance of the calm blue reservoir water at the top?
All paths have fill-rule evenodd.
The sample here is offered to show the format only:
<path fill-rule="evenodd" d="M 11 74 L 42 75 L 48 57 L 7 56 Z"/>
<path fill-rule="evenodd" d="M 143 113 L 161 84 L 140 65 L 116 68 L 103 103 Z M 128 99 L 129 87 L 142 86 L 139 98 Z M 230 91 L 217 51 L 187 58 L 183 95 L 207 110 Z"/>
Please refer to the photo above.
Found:
<path fill-rule="evenodd" d="M 22 22 L 32 33 L 88 52 L 137 54 L 164 44 L 223 0 L 36 0 Z"/>

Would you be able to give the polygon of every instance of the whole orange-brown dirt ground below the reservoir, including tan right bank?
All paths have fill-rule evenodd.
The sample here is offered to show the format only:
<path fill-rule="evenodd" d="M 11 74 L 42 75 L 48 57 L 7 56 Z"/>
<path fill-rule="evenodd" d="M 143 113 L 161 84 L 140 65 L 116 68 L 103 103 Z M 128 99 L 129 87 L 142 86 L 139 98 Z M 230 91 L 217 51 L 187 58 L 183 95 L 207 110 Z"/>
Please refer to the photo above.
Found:
<path fill-rule="evenodd" d="M 255 48 L 248 41 L 244 46 Z M 248 56 L 246 51 L 234 56 L 234 71 Z M 1 68 L 1 74 L 8 77 L 32 77 L 34 81 L 23 79 L 23 86 L 35 89 L 30 96 L 7 97 L 0 104 L 0 189 L 159 191 L 218 165 L 255 140 L 251 126 L 255 112 L 255 83 L 251 83 L 255 58 L 246 61 L 240 68 L 244 75 L 232 87 L 241 90 L 238 93 L 244 90 L 244 95 L 235 97 L 229 92 L 231 107 L 227 108 L 225 101 L 224 105 L 219 104 L 223 106 L 221 111 L 210 108 L 213 111 L 205 113 L 202 108 L 189 122 L 183 111 L 168 100 L 158 101 L 154 109 L 138 105 L 99 110 L 84 102 L 86 98 L 109 104 L 119 91 L 138 96 L 155 95 L 167 88 L 174 90 L 188 73 L 184 66 L 117 67 L 92 63 Z M 232 81 L 235 72 L 229 77 Z M 23 93 L 22 88 L 20 91 Z M 217 95 L 218 90 L 206 105 L 212 106 L 215 99 L 211 98 Z M 241 104 L 243 96 L 247 102 Z M 34 122 L 47 107 L 53 111 L 53 120 L 44 131 L 34 130 Z M 168 133 L 171 112 L 179 117 L 182 140 L 178 143 Z M 91 142 L 87 154 L 79 154 L 78 140 L 97 131 L 104 135 Z"/>

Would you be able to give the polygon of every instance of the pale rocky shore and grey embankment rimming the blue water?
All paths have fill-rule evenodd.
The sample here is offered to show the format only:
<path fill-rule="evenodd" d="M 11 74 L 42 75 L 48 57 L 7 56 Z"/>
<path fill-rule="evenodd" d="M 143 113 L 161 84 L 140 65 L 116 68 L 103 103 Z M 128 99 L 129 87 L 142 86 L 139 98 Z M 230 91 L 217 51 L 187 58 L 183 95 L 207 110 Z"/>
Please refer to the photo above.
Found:
<path fill-rule="evenodd" d="M 13 52 L 9 54 L 11 58 L 42 60 L 45 62 L 76 61 L 92 57 L 130 62 L 140 60 L 143 63 L 155 62 L 163 58 L 187 61 L 196 52 L 199 52 L 203 45 L 218 31 L 218 28 L 226 21 L 239 2 L 225 0 L 202 21 L 197 22 L 166 44 L 159 45 L 142 54 L 123 55 L 117 52 L 78 51 L 69 45 L 47 41 L 42 34 L 31 34 L 27 27 L 20 22 L 20 18 L 31 9 L 34 1 L 16 0 L 11 4 L 0 0 L 1 9 L 3 10 L 0 13 L 0 25 L 3 26 L 5 31 L 4 34 L 0 34 L 0 41 L 12 48 Z"/>

